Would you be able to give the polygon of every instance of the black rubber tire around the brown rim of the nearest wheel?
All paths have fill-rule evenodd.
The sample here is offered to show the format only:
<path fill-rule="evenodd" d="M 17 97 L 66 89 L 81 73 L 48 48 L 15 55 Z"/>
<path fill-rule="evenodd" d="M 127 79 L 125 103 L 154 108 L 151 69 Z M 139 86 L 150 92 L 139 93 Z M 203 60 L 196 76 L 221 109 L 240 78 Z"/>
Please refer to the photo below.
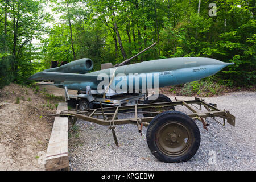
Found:
<path fill-rule="evenodd" d="M 160 128 L 165 126 L 167 123 L 180 123 L 181 125 L 185 126 L 187 130 L 189 130 L 191 139 L 188 138 L 188 140 L 189 142 L 191 140 L 191 142 L 187 144 L 188 147 L 185 148 L 184 154 L 178 154 L 179 156 L 170 156 L 159 150 L 157 145 L 157 133 L 158 130 L 160 130 Z M 185 162 L 191 159 L 196 154 L 200 146 L 200 141 L 200 131 L 196 123 L 192 120 L 191 117 L 179 111 L 165 111 L 161 114 L 158 114 L 154 119 L 152 119 L 147 129 L 148 148 L 150 148 L 152 154 L 161 162 Z"/>

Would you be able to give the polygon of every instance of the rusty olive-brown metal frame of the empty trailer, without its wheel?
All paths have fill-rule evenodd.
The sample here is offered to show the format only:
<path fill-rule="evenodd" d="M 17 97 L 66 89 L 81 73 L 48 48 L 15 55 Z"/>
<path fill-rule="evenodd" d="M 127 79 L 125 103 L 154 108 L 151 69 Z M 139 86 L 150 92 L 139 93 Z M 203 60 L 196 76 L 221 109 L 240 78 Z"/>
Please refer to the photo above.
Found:
<path fill-rule="evenodd" d="M 195 109 L 193 109 L 189 104 L 202 104 L 208 108 L 208 112 L 205 113 L 198 113 Z M 226 119 L 227 122 L 230 125 L 235 126 L 235 117 L 229 113 L 229 111 L 220 110 L 217 107 L 214 107 L 212 105 L 207 104 L 206 102 L 202 100 L 189 100 L 189 101 L 176 101 L 176 102 L 162 102 L 162 103 L 155 103 L 155 104 L 144 104 L 144 105 L 131 105 L 131 106 L 118 106 L 118 107 L 101 107 L 100 109 L 94 109 L 91 113 L 90 111 L 63 111 L 59 115 L 69 115 L 75 118 L 79 118 L 85 121 L 97 123 L 99 125 L 110 125 L 110 122 L 115 123 L 115 125 L 124 125 L 124 124 L 137 124 L 138 129 L 140 130 L 142 125 L 148 126 L 150 121 L 154 117 L 142 117 L 138 118 L 138 109 L 142 108 L 148 108 L 148 107 L 166 107 L 166 106 L 174 106 L 174 105 L 184 105 L 189 110 L 192 111 L 192 113 L 187 114 L 189 117 L 191 117 L 193 120 L 199 119 L 204 126 L 207 126 L 207 122 L 204 121 L 207 117 L 219 117 Z M 119 111 L 121 110 L 134 110 L 135 117 L 134 118 L 127 118 L 127 119 L 116 119 Z M 114 111 L 114 113 L 106 113 L 106 111 Z M 155 113 L 155 112 L 154 112 Z M 88 115 L 83 115 L 88 114 Z M 93 116 L 103 115 L 104 119 L 94 118 Z M 106 115 L 113 115 L 111 121 L 106 121 L 105 116 Z M 140 125 L 140 126 L 139 126 Z"/>

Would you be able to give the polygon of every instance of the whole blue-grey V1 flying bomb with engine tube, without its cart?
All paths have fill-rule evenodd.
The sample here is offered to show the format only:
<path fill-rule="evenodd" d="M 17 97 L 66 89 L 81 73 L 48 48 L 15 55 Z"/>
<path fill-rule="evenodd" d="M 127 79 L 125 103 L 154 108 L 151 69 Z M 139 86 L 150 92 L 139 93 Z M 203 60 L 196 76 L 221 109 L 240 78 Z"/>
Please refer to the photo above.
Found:
<path fill-rule="evenodd" d="M 158 78 L 160 88 L 200 80 L 214 75 L 222 68 L 232 64 L 234 63 L 224 63 L 205 57 L 178 57 L 144 61 L 88 73 L 93 68 L 93 62 L 84 58 L 61 67 L 35 73 L 30 77 L 30 80 L 53 80 L 55 85 L 60 88 L 67 87 L 71 90 L 86 91 L 88 86 L 92 90 L 97 90 L 102 79 L 106 79 L 111 83 L 110 87 L 112 88 L 115 88 L 120 81 L 125 81 L 127 90 L 136 88 L 138 85 L 141 90 L 145 84 L 145 80 L 143 80 L 145 76 L 146 83 L 148 83 L 149 78 L 152 80 L 152 88 L 154 88 L 156 78 Z M 122 75 L 122 78 L 118 75 Z M 137 78 L 138 84 L 135 81 Z M 146 84 L 146 88 L 148 88 L 148 84 Z"/>

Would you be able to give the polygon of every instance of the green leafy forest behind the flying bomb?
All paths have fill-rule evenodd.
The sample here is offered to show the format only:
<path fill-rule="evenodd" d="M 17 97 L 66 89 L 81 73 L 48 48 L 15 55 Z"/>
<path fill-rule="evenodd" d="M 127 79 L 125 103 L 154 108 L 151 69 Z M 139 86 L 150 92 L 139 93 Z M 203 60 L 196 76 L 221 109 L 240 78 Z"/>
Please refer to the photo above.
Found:
<path fill-rule="evenodd" d="M 255 0 L 0 0 L 0 88 L 30 84 L 28 77 L 51 61 L 88 57 L 96 71 L 154 42 L 131 63 L 169 57 L 234 62 L 205 82 L 250 88 L 255 30 Z"/>

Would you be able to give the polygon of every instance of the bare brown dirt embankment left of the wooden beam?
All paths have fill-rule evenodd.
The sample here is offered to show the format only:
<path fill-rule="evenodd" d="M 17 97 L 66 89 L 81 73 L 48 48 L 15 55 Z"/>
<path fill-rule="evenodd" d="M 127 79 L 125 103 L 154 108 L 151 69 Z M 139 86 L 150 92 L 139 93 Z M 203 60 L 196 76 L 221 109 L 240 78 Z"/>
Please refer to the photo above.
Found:
<path fill-rule="evenodd" d="M 61 97 L 47 89 L 10 84 L 0 89 L 0 170 L 43 170 L 54 117 Z"/>

